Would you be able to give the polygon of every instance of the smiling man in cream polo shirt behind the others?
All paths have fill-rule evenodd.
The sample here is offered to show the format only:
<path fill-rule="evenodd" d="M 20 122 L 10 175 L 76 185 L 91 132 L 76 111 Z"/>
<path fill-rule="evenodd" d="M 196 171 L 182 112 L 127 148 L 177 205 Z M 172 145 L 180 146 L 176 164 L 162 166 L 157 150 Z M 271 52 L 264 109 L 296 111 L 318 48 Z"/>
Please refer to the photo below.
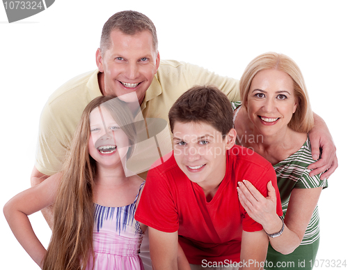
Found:
<path fill-rule="evenodd" d="M 122 11 L 109 18 L 104 24 L 95 58 L 97 70 L 63 84 L 49 97 L 42 110 L 32 186 L 61 170 L 77 121 L 84 107 L 97 96 L 136 92 L 144 118 L 167 121 L 171 105 L 184 89 L 195 84 L 214 84 L 230 100 L 239 100 L 237 80 L 220 77 L 188 63 L 160 62 L 155 26 L 148 17 L 135 11 Z M 323 149 L 322 159 L 312 167 L 319 169 L 313 173 L 330 168 L 326 172 L 329 177 L 337 167 L 337 158 L 329 130 L 319 117 L 311 141 L 313 156 L 319 157 L 319 141 Z M 42 212 L 52 227 L 52 209 Z"/>

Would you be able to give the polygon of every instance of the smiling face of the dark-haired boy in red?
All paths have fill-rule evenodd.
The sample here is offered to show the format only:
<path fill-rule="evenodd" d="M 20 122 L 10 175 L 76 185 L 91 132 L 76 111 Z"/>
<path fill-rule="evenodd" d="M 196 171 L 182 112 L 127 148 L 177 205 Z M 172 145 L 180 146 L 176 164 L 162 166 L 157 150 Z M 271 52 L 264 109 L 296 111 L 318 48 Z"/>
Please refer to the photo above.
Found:
<path fill-rule="evenodd" d="M 235 143 L 235 130 L 223 139 L 208 123 L 175 122 L 174 157 L 182 172 L 203 190 L 216 188 L 226 173 L 226 150 Z"/>

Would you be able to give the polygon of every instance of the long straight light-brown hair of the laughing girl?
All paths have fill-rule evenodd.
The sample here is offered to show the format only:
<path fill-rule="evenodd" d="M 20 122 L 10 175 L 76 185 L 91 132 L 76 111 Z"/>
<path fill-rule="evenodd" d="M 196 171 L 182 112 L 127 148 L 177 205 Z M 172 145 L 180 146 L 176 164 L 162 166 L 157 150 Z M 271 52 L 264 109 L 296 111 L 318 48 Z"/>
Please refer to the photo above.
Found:
<path fill-rule="evenodd" d="M 86 269 L 93 255 L 93 179 L 97 174 L 95 160 L 88 152 L 89 115 L 104 106 L 134 144 L 136 130 L 127 105 L 112 96 L 92 100 L 82 113 L 61 172 L 61 182 L 54 202 L 54 227 L 43 269 Z M 131 147 L 132 148 L 132 147 Z"/>

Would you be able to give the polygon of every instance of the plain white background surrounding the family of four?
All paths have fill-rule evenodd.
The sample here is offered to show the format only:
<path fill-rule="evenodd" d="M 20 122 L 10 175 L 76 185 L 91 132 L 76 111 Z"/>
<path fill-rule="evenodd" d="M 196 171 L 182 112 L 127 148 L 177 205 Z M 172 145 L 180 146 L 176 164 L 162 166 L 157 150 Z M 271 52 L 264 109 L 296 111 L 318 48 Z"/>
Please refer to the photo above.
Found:
<path fill-rule="evenodd" d="M 322 237 L 317 259 L 348 264 L 347 6 L 344 0 L 56 0 L 44 12 L 12 24 L 0 6 L 1 208 L 30 186 L 38 121 L 47 98 L 70 78 L 96 68 L 104 22 L 113 13 L 132 9 L 155 23 L 162 59 L 196 63 L 237 79 L 263 52 L 282 52 L 299 64 L 313 110 L 334 137 L 340 165 L 319 200 Z M 35 213 L 31 221 L 47 246 L 45 220 Z M 2 214 L 0 226 L 0 269 L 38 269 Z M 325 265 L 333 268 L 333 262 Z"/>

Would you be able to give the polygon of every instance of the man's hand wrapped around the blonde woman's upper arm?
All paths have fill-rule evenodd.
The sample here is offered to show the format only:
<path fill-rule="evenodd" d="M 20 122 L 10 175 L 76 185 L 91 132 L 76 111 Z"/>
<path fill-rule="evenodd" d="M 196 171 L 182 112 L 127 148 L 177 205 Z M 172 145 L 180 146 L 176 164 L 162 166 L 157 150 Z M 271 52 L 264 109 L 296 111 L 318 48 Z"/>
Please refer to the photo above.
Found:
<path fill-rule="evenodd" d="M 317 160 L 320 156 L 320 149 L 322 149 L 322 156 L 317 162 L 309 165 L 308 169 L 313 170 L 310 172 L 311 177 L 324 172 L 320 177 L 320 179 L 324 180 L 329 178 L 338 167 L 336 147 L 324 120 L 319 115 L 314 114 L 314 122 L 315 126 L 309 132 L 312 156 L 314 160 Z"/>

